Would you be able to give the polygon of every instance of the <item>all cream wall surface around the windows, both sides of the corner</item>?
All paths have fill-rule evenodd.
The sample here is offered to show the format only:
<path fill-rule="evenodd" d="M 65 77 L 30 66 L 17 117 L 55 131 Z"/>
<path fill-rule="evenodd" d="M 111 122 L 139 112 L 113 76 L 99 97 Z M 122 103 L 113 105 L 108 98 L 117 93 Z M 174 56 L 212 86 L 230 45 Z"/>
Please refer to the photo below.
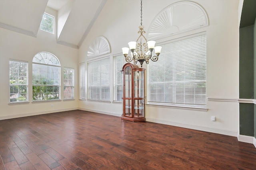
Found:
<path fill-rule="evenodd" d="M 178 0 L 144 0 L 143 25 L 145 31 L 155 16 Z M 209 26 L 196 32 L 207 35 L 207 101 L 208 111 L 146 106 L 146 121 L 177 125 L 203 131 L 236 136 L 238 131 L 238 0 L 194 0 L 206 10 Z M 57 16 L 50 8 L 48 14 Z M 0 28 L 0 119 L 36 115 L 62 110 L 84 109 L 120 116 L 122 105 L 78 100 L 79 63 L 86 62 L 90 42 L 104 36 L 112 55 L 122 53 L 129 41 L 138 38 L 140 25 L 139 0 L 108 0 L 79 50 L 56 43 L 56 34 L 38 31 L 36 38 Z M 55 29 L 56 30 L 56 29 Z M 182 37 L 182 33 L 170 37 Z M 160 43 L 160 42 L 158 42 Z M 32 104 L 32 58 L 41 51 L 50 52 L 64 66 L 75 68 L 75 100 L 68 102 L 40 102 Z M 9 105 L 9 59 L 29 62 L 29 104 Z M 161 54 L 160 58 L 161 59 Z M 111 60 L 112 61 L 112 60 Z M 143 66 L 146 68 L 146 65 Z M 63 84 L 63 73 L 62 84 Z M 110 80 L 112 82 L 112 80 Z M 111 84 L 112 86 L 113 84 Z M 62 92 L 63 94 L 63 92 Z M 62 95 L 63 96 L 63 95 Z M 112 98 L 111 98 L 112 99 Z M 51 107 L 54 104 L 54 107 Z M 216 121 L 211 121 L 211 116 Z"/>

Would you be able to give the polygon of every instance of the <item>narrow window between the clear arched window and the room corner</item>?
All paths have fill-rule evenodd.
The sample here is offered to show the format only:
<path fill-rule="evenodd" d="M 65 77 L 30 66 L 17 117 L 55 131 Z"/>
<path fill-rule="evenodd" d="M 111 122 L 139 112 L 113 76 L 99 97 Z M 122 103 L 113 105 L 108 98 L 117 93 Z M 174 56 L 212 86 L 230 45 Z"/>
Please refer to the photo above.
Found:
<path fill-rule="evenodd" d="M 64 99 L 74 99 L 74 68 L 64 68 Z"/>

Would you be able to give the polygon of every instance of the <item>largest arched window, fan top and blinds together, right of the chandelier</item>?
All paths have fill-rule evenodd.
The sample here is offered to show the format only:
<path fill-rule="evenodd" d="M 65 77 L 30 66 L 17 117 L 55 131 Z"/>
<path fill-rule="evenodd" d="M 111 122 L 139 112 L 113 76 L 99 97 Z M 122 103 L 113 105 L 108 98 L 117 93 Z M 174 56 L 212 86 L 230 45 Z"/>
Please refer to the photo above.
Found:
<path fill-rule="evenodd" d="M 148 39 L 162 41 L 162 51 L 156 63 L 148 64 L 148 104 L 205 110 L 206 31 L 198 28 L 208 24 L 204 9 L 187 1 L 174 3 L 155 17 Z M 173 39 L 174 34 L 180 37 Z"/>

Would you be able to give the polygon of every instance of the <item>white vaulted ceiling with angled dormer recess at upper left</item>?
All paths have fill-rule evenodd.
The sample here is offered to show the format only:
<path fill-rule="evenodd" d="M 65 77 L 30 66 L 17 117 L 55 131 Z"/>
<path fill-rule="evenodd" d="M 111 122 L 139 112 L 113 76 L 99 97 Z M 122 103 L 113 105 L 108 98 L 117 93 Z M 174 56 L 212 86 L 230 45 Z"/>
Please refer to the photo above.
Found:
<path fill-rule="evenodd" d="M 46 7 L 58 12 L 57 43 L 79 49 L 107 0 L 0 0 L 0 27 L 36 37 Z"/>

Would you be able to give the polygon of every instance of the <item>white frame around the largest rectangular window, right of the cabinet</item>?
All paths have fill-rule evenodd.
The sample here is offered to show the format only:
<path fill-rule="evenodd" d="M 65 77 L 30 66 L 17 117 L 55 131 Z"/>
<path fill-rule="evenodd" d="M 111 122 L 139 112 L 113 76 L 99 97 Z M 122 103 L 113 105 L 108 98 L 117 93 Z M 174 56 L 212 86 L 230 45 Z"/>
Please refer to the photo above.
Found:
<path fill-rule="evenodd" d="M 179 42 L 179 41 L 186 41 L 186 39 L 191 39 L 193 37 L 196 37 L 196 36 L 205 36 L 205 97 L 204 97 L 204 101 L 205 101 L 205 104 L 203 106 L 200 106 L 199 104 L 196 104 L 194 106 L 190 105 L 190 104 L 176 104 L 176 103 L 166 103 L 166 102 L 157 102 L 157 101 L 150 101 L 150 83 L 152 82 L 149 82 L 150 81 L 150 65 L 148 65 L 148 70 L 147 70 L 147 105 L 151 105 L 151 106 L 160 106 L 160 107 L 173 107 L 173 108 L 180 108 L 180 109 L 190 109 L 190 110 L 199 110 L 199 111 L 207 111 L 207 108 L 206 108 L 206 32 L 201 32 L 201 33 L 196 33 L 194 35 L 188 35 L 188 36 L 185 36 L 185 37 L 180 37 L 180 38 L 177 38 L 177 39 L 174 39 L 174 40 L 170 40 L 170 41 L 165 41 L 165 42 L 162 42 L 160 43 L 160 45 L 166 45 L 166 44 L 170 44 L 170 43 L 175 43 L 175 42 Z M 164 48 L 164 47 L 163 47 Z M 163 55 L 163 53 L 162 53 Z M 161 54 L 160 54 L 161 56 Z M 168 56 L 170 58 L 170 56 Z M 159 59 L 160 60 L 160 59 Z M 159 60 L 158 60 L 158 63 L 159 63 Z M 170 61 L 168 61 L 170 62 Z M 155 63 L 152 63 L 152 65 L 155 64 Z M 157 64 L 157 63 L 156 63 Z M 151 65 L 151 66 L 152 66 Z M 154 66 L 154 67 L 158 67 L 158 66 Z"/>

